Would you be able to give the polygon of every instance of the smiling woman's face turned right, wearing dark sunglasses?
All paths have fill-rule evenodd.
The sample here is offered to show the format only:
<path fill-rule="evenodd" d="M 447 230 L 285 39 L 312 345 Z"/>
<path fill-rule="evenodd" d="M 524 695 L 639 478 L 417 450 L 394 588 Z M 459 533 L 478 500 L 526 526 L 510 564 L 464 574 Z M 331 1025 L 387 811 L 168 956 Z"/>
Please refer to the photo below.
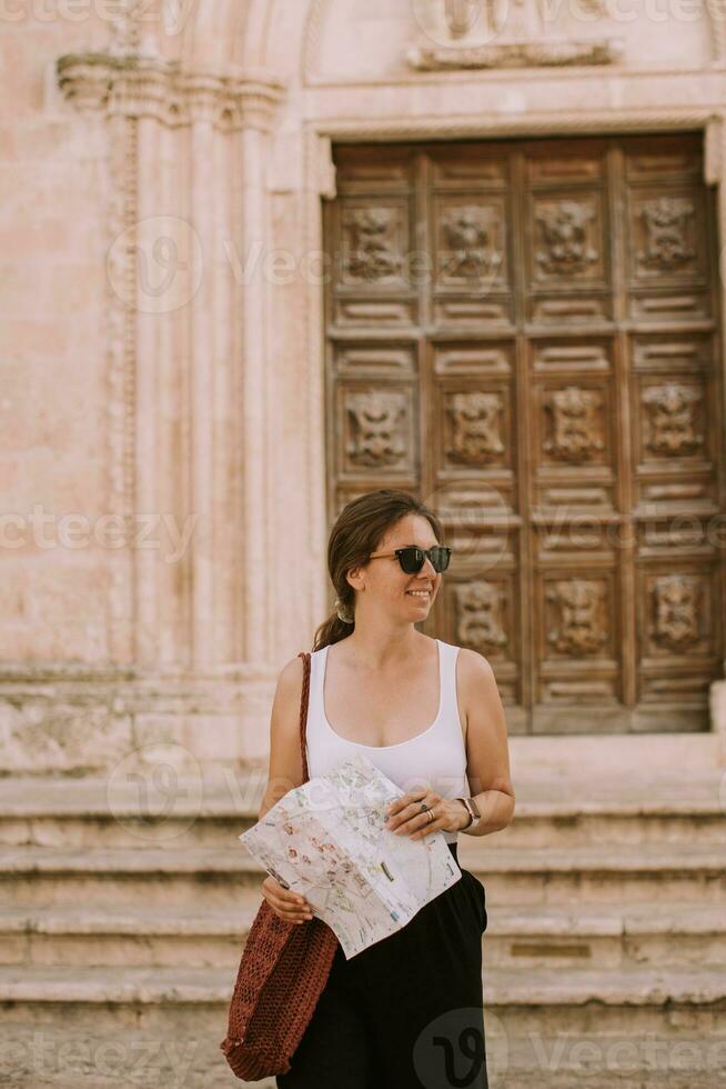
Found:
<path fill-rule="evenodd" d="M 431 548 L 438 544 L 431 523 L 421 514 L 406 514 L 393 526 L 374 551 L 392 552 L 396 548 L 415 544 L 419 548 Z M 369 560 L 362 569 L 361 578 L 365 585 L 365 593 L 361 597 L 393 612 L 397 618 L 417 623 L 428 616 L 438 587 L 442 573 L 434 571 L 428 557 L 415 575 L 406 575 L 395 556 Z"/>

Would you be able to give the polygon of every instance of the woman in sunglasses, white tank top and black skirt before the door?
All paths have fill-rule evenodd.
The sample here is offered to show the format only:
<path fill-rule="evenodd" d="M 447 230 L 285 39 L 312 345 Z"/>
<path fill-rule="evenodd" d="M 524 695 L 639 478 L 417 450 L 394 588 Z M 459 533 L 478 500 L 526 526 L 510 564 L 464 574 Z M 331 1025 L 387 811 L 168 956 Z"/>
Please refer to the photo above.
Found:
<path fill-rule="evenodd" d="M 443 835 L 456 858 L 460 832 L 511 822 L 514 790 L 488 662 L 415 628 L 441 590 L 442 539 L 436 514 L 405 492 L 373 491 L 341 512 L 327 550 L 336 611 L 315 632 L 306 743 L 311 778 L 363 752 L 404 791 L 390 810 L 392 835 Z M 260 817 L 303 781 L 302 667 L 293 658 L 278 682 Z M 470 795 L 481 819 L 461 800 Z M 262 891 L 280 918 L 312 918 L 272 877 Z M 487 1089 L 486 925 L 484 887 L 464 870 L 401 930 L 350 960 L 339 945 L 279 1089 Z"/>

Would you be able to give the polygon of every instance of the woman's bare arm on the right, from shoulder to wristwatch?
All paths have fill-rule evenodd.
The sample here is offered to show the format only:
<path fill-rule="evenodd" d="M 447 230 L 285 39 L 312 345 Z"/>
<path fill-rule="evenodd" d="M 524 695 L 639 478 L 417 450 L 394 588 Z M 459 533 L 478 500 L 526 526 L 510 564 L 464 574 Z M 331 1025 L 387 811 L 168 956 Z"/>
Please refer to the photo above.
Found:
<path fill-rule="evenodd" d="M 482 813 L 471 832 L 462 832 L 486 836 L 506 828 L 514 817 L 506 718 L 494 670 L 486 658 L 466 647 L 458 653 L 466 713 L 466 778 Z"/>

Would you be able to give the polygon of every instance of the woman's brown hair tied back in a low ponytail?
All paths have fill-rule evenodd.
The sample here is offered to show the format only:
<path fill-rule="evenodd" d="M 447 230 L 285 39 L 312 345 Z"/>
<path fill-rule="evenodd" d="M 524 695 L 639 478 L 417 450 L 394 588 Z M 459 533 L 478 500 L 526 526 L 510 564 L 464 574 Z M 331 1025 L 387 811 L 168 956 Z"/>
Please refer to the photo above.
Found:
<path fill-rule="evenodd" d="M 337 516 L 327 541 L 327 571 L 344 611 L 354 615 L 355 590 L 345 576 L 351 568 L 367 562 L 380 541 L 397 521 L 406 514 L 426 518 L 440 544 L 444 543 L 444 530 L 437 516 L 407 491 L 379 488 L 347 503 Z M 345 623 L 334 609 L 327 620 L 315 630 L 313 650 L 340 642 L 353 631 L 355 623 Z"/>

